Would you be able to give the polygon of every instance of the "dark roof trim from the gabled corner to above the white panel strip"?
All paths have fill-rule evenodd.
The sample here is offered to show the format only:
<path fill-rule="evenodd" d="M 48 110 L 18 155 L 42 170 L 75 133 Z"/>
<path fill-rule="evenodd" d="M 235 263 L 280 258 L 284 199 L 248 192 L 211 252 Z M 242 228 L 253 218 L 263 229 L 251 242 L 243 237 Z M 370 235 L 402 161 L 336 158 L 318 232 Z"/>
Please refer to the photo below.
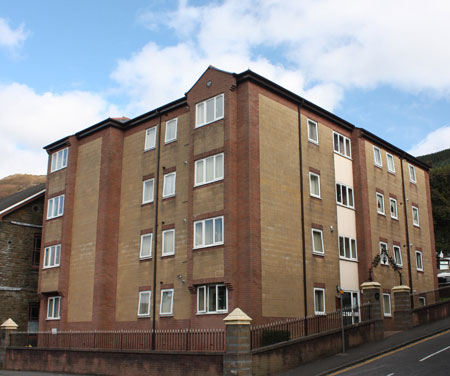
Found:
<path fill-rule="evenodd" d="M 272 91 L 279 96 L 294 102 L 297 105 L 302 104 L 303 108 L 306 108 L 308 111 L 314 112 L 317 115 L 322 116 L 323 118 L 330 120 L 334 123 L 337 123 L 342 128 L 347 129 L 349 131 L 353 131 L 356 127 L 349 123 L 348 121 L 341 119 L 339 116 L 319 107 L 318 105 L 304 99 L 303 97 L 294 94 L 292 91 L 285 89 L 284 87 L 276 84 L 273 81 L 268 80 L 267 78 L 260 76 L 259 74 L 252 72 L 251 70 L 247 70 L 245 72 L 235 74 L 237 84 L 239 85 L 243 81 L 251 81 L 264 88 Z"/>

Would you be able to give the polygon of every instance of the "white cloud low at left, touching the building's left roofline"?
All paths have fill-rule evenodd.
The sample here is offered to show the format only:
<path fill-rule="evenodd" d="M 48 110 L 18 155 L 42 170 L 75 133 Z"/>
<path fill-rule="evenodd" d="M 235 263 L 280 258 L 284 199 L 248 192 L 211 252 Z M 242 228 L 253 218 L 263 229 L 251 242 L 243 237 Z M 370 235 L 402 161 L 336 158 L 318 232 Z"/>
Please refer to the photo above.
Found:
<path fill-rule="evenodd" d="M 117 113 L 94 93 L 38 94 L 26 85 L 0 85 L 0 178 L 15 173 L 45 174 L 44 145 Z"/>

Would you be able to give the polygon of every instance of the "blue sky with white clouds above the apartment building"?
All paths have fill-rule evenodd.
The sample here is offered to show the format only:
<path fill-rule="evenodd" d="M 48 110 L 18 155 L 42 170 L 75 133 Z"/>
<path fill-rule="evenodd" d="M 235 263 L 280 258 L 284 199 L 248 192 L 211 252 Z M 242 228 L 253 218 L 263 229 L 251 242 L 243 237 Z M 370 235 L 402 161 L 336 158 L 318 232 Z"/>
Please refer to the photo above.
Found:
<path fill-rule="evenodd" d="M 418 156 L 450 148 L 448 0 L 0 0 L 0 179 L 251 69 Z"/>

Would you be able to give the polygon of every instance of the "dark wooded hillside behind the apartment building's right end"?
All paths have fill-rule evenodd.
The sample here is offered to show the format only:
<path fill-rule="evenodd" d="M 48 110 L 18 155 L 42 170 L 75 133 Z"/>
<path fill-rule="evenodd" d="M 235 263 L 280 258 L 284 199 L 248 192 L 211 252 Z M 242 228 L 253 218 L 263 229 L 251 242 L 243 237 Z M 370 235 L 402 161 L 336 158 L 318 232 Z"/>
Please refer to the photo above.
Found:
<path fill-rule="evenodd" d="M 430 188 L 436 251 L 450 254 L 450 149 L 418 159 L 432 166 Z"/>

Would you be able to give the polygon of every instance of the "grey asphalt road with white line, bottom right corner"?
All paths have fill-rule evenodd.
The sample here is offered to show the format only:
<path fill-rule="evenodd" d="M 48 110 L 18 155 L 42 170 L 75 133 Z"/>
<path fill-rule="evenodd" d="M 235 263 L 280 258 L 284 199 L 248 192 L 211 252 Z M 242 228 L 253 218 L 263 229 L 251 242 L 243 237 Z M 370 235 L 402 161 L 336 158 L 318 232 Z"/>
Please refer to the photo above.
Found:
<path fill-rule="evenodd" d="M 450 330 L 329 376 L 450 375 Z"/>

